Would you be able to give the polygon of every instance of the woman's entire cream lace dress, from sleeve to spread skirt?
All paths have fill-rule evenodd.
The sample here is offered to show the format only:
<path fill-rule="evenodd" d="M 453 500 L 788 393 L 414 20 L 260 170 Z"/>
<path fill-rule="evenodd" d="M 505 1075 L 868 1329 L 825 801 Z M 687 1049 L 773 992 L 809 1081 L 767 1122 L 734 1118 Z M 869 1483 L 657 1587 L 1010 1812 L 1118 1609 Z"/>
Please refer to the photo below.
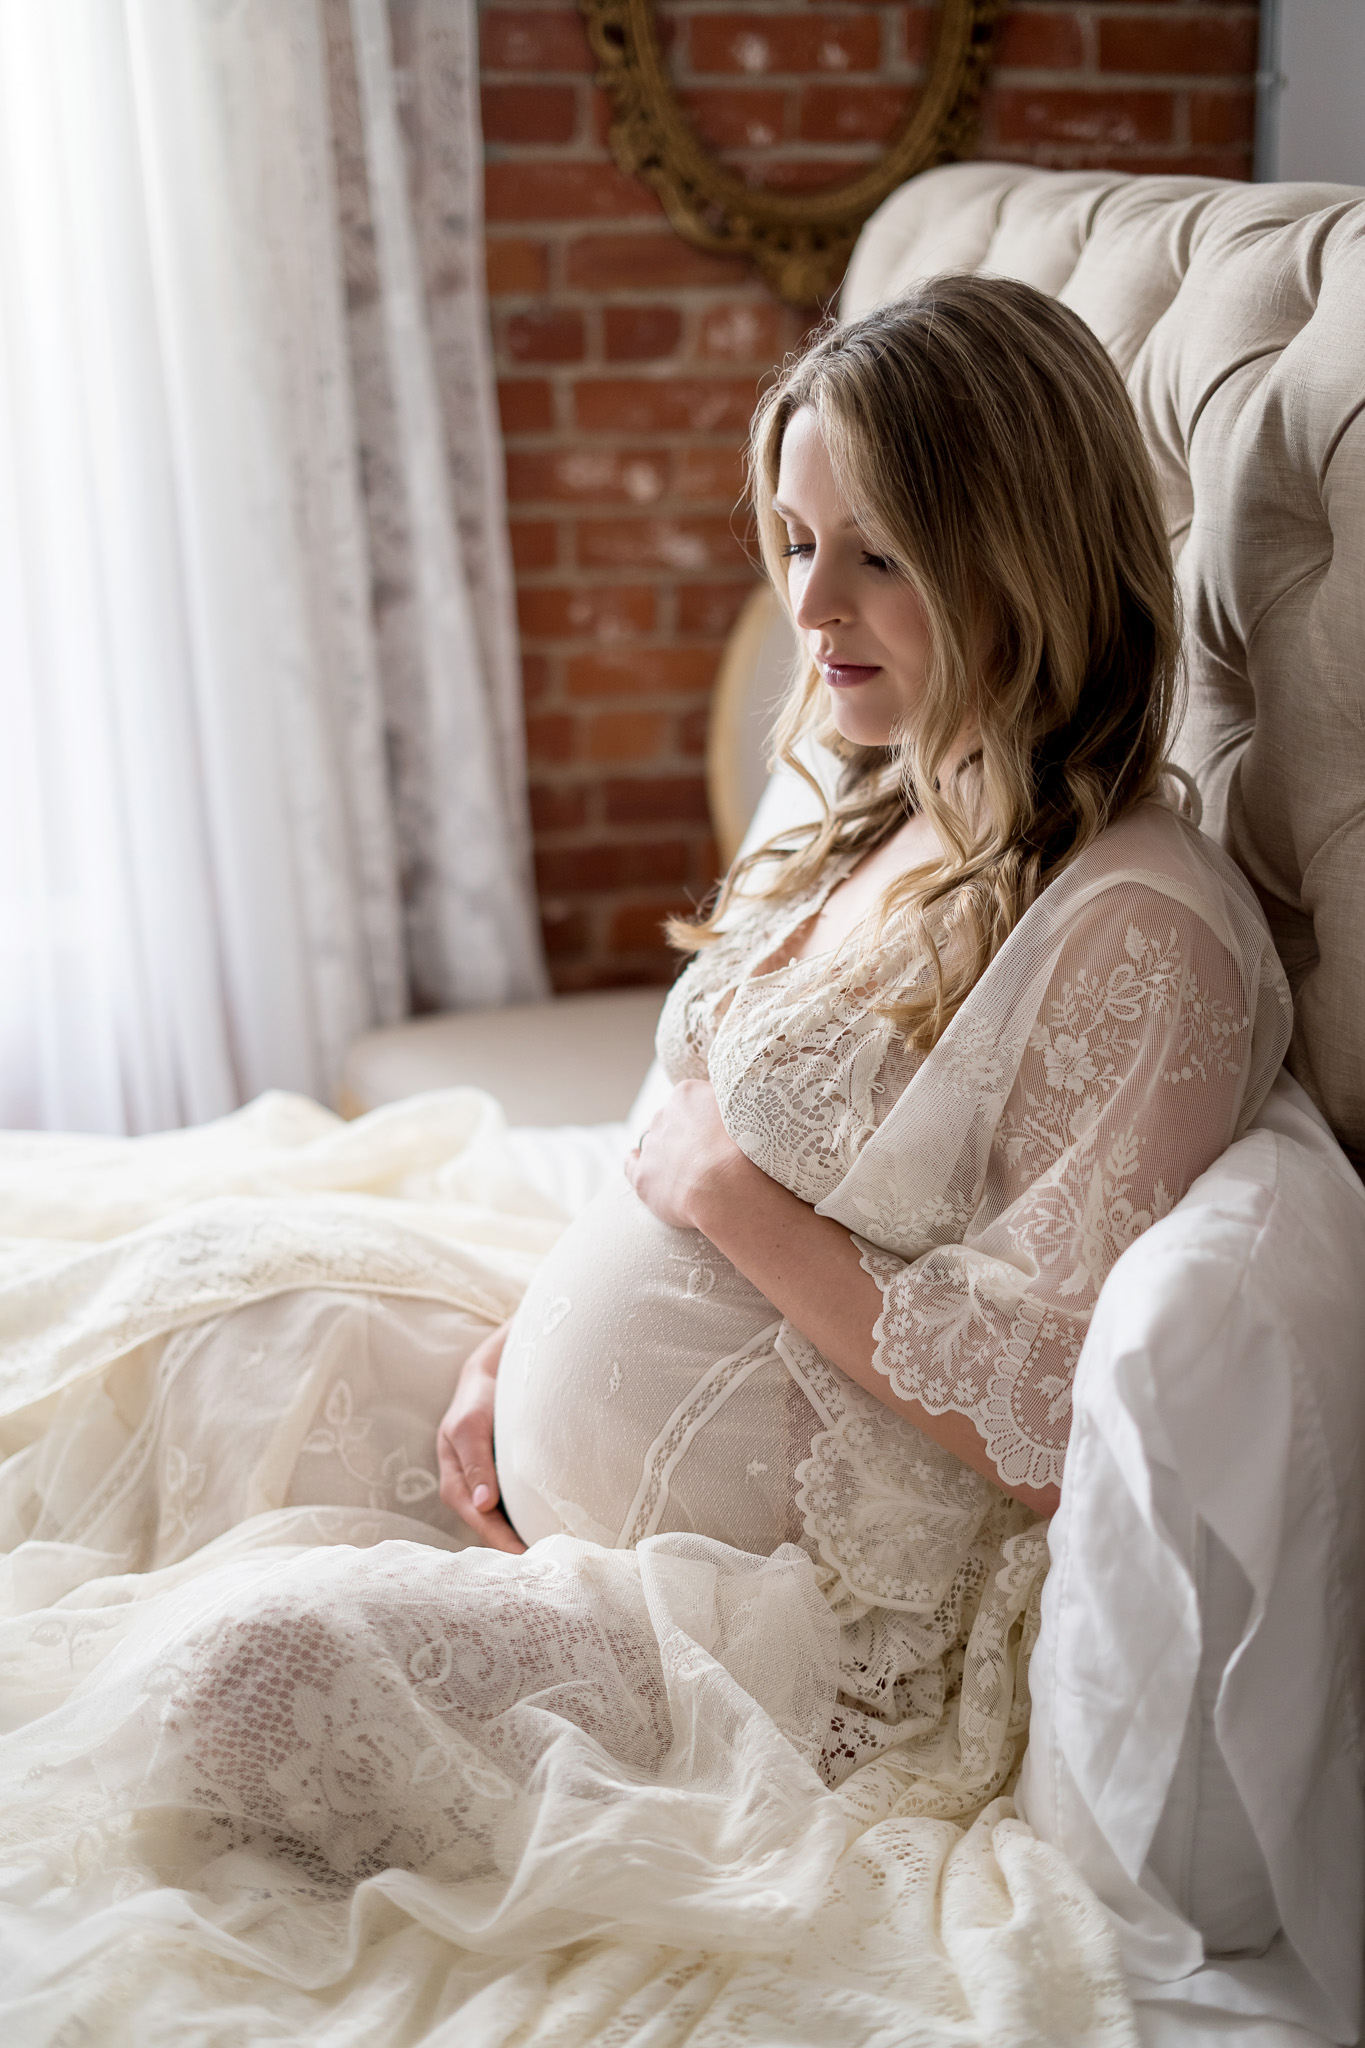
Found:
<path fill-rule="evenodd" d="M 819 901 L 663 1061 L 853 1233 L 888 1384 L 1044 1485 L 1105 1274 L 1283 1057 L 1265 926 L 1144 805 L 919 1059 L 913 958 L 784 965 Z M 1132 2042 L 997 1796 L 1044 1528 L 624 1182 L 536 1210 L 469 1096 L 0 1145 L 6 2042 Z M 505 1559 L 432 1430 L 518 1298 Z"/>

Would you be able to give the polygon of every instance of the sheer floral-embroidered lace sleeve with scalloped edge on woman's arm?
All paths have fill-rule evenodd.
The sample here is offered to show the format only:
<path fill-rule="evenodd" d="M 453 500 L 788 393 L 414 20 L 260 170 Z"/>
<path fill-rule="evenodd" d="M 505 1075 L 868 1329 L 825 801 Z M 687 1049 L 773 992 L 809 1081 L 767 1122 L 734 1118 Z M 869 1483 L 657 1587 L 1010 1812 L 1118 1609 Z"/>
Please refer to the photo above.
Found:
<path fill-rule="evenodd" d="M 1254 1004 L 1209 924 L 1140 881 L 1078 911 L 1038 993 L 1011 1020 L 1017 1059 L 1001 1059 L 988 1008 L 958 1020 L 950 1085 L 999 1108 L 984 1174 L 950 1176 L 919 1217 L 958 1241 L 898 1257 L 855 1233 L 882 1290 L 878 1372 L 931 1415 L 970 1415 L 1007 1489 L 1060 1481 L 1095 1296 L 1232 1141 Z"/>

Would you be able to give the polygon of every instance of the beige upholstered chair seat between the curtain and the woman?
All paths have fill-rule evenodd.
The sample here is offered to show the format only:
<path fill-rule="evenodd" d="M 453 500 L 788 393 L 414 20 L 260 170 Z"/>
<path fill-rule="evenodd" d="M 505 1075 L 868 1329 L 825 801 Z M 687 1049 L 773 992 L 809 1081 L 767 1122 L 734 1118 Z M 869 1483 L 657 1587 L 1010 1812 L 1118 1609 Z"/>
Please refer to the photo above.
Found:
<path fill-rule="evenodd" d="M 428 1087 L 485 1087 L 512 1124 L 614 1124 L 634 1102 L 665 989 L 602 989 L 516 1010 L 413 1018 L 356 1038 L 346 1116 Z"/>

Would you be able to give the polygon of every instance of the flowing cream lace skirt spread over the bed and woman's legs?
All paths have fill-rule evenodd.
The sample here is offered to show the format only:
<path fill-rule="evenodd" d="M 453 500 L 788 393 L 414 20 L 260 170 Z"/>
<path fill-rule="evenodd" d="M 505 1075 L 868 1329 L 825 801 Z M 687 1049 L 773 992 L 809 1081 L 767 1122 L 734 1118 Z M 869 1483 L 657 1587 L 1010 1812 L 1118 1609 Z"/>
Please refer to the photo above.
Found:
<path fill-rule="evenodd" d="M 1005 1802 L 821 1776 L 878 1624 L 806 1550 L 465 1544 L 434 1427 L 530 1264 L 475 1223 L 237 1198 L 0 1274 L 6 2048 L 1132 2042 Z"/>

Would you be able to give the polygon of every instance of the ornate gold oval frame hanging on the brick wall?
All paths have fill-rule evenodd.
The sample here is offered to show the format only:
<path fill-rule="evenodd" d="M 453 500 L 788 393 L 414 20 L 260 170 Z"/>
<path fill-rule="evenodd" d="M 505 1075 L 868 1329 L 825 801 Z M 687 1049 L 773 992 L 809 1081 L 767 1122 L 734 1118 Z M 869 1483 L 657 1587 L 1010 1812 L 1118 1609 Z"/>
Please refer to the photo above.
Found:
<path fill-rule="evenodd" d="M 696 135 L 667 72 L 653 0 L 579 0 L 612 96 L 612 156 L 659 193 L 679 236 L 749 256 L 780 299 L 819 305 L 839 285 L 874 207 L 976 135 L 990 39 L 1005 0 L 939 0 L 933 61 L 919 104 L 876 164 L 841 184 L 767 193 L 726 170 Z"/>

